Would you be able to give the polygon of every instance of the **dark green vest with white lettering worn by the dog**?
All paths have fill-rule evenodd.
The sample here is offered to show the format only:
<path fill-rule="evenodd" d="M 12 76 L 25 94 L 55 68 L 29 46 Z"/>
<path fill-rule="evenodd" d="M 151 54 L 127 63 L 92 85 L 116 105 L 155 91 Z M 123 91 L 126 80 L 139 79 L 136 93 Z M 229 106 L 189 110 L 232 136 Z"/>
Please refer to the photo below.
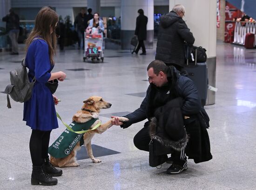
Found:
<path fill-rule="evenodd" d="M 74 131 L 85 131 L 88 130 L 96 120 L 97 119 L 93 118 L 86 123 L 76 123 L 73 121 L 69 126 Z M 67 157 L 78 142 L 80 142 L 80 146 L 83 145 L 82 137 L 83 134 L 77 134 L 66 129 L 49 147 L 48 153 L 55 158 Z"/>

